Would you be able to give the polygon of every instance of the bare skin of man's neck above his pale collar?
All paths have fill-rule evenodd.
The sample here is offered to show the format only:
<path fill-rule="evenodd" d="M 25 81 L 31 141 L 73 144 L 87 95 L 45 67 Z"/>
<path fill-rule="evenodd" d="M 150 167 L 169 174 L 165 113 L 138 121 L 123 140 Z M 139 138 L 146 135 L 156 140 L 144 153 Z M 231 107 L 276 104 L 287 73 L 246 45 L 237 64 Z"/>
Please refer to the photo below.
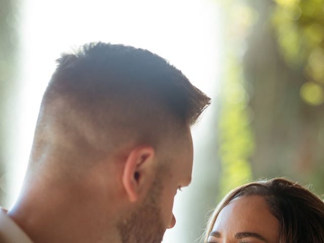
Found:
<path fill-rule="evenodd" d="M 8 212 L 35 243 L 120 242 L 113 218 L 108 220 L 111 209 L 98 207 L 100 198 L 77 196 L 72 188 L 43 188 L 53 189 L 26 190 Z"/>

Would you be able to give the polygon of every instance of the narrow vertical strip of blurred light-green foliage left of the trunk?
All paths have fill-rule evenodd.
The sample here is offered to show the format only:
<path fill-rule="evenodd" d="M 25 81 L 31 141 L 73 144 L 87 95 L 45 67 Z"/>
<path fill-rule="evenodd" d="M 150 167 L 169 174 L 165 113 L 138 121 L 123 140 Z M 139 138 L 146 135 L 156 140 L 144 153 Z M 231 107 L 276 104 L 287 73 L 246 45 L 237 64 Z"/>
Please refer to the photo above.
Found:
<path fill-rule="evenodd" d="M 219 154 L 221 159 L 220 196 L 230 189 L 252 180 L 250 157 L 254 151 L 251 130 L 253 112 L 248 106 L 242 66 L 241 46 L 255 16 L 242 1 L 227 1 L 225 73 L 222 84 L 221 113 L 219 118 Z"/>

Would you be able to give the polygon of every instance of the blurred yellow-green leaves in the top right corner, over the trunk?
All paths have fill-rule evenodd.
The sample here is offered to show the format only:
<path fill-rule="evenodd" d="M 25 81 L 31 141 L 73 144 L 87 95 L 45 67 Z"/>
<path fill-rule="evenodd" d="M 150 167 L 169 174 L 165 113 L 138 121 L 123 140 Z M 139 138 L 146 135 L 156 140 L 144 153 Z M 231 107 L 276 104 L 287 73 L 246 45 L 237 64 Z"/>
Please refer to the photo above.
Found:
<path fill-rule="evenodd" d="M 309 105 L 324 102 L 324 0 L 275 0 L 273 24 L 287 64 L 302 68 L 300 89 Z"/>

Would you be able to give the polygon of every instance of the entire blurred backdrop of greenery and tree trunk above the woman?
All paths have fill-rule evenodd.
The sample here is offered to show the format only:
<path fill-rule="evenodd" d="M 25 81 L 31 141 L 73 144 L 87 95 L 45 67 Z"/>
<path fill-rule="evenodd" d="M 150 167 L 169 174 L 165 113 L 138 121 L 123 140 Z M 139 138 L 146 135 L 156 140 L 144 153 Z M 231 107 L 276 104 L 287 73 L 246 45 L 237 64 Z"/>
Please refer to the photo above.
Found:
<path fill-rule="evenodd" d="M 221 195 L 258 178 L 324 186 L 324 0 L 220 1 Z"/>

